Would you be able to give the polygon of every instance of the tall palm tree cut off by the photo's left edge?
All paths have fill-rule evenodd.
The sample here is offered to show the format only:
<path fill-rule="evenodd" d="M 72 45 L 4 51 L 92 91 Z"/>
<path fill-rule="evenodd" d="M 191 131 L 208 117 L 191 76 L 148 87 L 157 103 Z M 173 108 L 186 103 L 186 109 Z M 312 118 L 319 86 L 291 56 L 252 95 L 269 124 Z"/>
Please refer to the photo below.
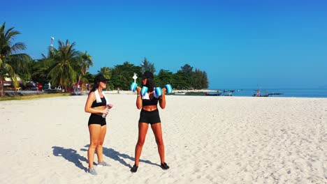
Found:
<path fill-rule="evenodd" d="M 14 27 L 6 29 L 6 22 L 0 26 L 0 85 L 1 97 L 3 97 L 3 80 L 5 77 L 12 79 L 13 84 L 17 87 L 17 76 L 27 79 L 29 75 L 29 61 L 31 57 L 27 54 L 15 54 L 26 49 L 24 43 L 12 43 L 19 31 Z"/>

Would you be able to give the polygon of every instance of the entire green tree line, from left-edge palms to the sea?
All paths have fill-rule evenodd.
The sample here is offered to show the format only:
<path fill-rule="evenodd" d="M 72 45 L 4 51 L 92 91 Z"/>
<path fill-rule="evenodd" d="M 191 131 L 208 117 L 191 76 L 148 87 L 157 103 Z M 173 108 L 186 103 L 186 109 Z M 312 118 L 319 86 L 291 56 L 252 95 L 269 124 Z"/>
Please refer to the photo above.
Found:
<path fill-rule="evenodd" d="M 61 86 L 62 89 L 69 89 L 79 84 L 84 88 L 86 84 L 92 84 L 94 76 L 101 73 L 109 78 L 108 89 L 128 90 L 133 82 L 133 74 L 138 76 L 138 84 L 145 70 L 156 72 L 154 63 L 145 58 L 140 66 L 136 66 L 128 61 L 113 68 L 103 67 L 97 74 L 88 72 L 93 66 L 92 56 L 86 51 L 80 52 L 75 49 L 75 43 L 68 40 L 63 42 L 58 40 L 58 48 L 48 47 L 48 54 L 42 54 L 42 59 L 31 59 L 28 54 L 20 54 L 26 45 L 24 43 L 14 43 L 14 39 L 19 35 L 13 27 L 6 29 L 6 23 L 0 26 L 0 88 L 3 96 L 3 82 L 5 78 L 13 81 L 14 89 L 23 85 L 27 81 L 34 81 L 40 84 L 50 82 L 52 86 Z M 18 82 L 19 77 L 23 84 Z M 206 89 L 208 88 L 208 76 L 206 72 L 185 64 L 176 73 L 169 70 L 159 70 L 155 77 L 157 86 L 171 84 L 175 89 Z"/>

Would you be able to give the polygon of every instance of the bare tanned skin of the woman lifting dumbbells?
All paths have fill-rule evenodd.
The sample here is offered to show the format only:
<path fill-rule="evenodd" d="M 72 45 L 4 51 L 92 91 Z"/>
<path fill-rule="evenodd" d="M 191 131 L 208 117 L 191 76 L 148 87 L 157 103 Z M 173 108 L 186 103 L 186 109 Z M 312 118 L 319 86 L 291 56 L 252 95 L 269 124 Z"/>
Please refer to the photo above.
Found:
<path fill-rule="evenodd" d="M 147 84 L 147 79 L 142 79 L 143 85 Z M 140 91 L 141 88 L 137 87 L 137 98 L 136 98 L 136 107 L 138 109 L 143 109 L 145 111 L 154 111 L 157 109 L 157 105 L 148 105 L 145 107 L 142 107 L 142 98 L 140 97 Z M 164 109 L 166 107 L 166 89 L 162 89 L 162 95 L 159 98 L 159 106 L 161 109 Z M 154 98 L 154 91 L 148 93 L 150 99 Z M 138 123 L 138 142 L 136 143 L 136 148 L 135 148 L 135 164 L 138 166 L 138 163 L 140 162 L 140 154 L 142 152 L 142 148 L 145 142 L 145 136 L 147 135 L 147 129 L 149 128 L 148 123 Z M 154 137 L 157 142 L 158 146 L 158 152 L 160 156 L 160 161 L 161 163 L 165 162 L 165 147 L 163 145 L 163 139 L 162 139 L 162 131 L 161 131 L 161 122 L 154 123 L 151 125 L 152 131 L 154 133 Z"/>

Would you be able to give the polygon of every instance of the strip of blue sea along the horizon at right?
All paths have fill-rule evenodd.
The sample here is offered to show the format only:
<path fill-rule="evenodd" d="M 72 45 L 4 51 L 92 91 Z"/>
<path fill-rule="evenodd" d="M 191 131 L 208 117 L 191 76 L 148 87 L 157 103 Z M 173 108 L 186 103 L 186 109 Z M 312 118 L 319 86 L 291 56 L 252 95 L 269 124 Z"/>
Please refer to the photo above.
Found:
<path fill-rule="evenodd" d="M 216 90 L 216 89 L 213 89 Z M 224 90 L 224 89 L 219 89 Z M 233 96 L 252 96 L 256 89 L 225 89 L 235 90 Z M 282 93 L 281 95 L 269 95 L 269 97 L 298 97 L 298 98 L 327 98 L 326 89 L 260 89 L 261 95 L 266 93 Z M 227 94 L 226 92 L 225 94 Z"/>

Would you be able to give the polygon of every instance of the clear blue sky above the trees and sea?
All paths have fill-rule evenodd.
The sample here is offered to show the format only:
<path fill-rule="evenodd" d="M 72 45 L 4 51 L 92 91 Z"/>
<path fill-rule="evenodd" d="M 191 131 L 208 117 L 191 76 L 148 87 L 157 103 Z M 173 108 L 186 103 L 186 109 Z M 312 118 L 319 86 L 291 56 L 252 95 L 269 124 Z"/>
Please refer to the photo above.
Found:
<path fill-rule="evenodd" d="M 145 57 L 177 72 L 207 72 L 210 89 L 327 86 L 327 1 L 24 1 L 1 3 L 0 21 L 34 59 L 50 38 L 75 42 L 89 72 Z M 132 81 L 133 79 L 131 79 Z"/>

